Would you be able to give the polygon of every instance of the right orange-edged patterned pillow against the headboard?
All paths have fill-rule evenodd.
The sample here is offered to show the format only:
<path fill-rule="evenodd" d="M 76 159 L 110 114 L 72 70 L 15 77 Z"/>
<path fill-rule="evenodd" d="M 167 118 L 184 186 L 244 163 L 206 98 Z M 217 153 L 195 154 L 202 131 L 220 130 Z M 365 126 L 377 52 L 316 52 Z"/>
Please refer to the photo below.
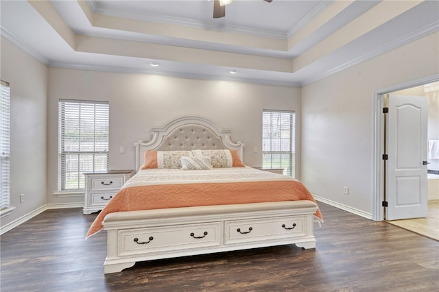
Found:
<path fill-rule="evenodd" d="M 245 167 L 237 150 L 212 149 L 212 150 L 192 150 L 195 157 L 210 156 L 213 168 L 224 167 Z"/>

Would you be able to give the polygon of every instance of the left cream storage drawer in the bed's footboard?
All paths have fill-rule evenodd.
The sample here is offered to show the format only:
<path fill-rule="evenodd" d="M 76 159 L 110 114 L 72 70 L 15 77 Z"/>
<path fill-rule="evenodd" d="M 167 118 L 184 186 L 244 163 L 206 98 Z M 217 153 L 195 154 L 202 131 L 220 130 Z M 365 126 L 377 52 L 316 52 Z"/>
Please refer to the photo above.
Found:
<path fill-rule="evenodd" d="M 119 230 L 119 256 L 180 252 L 222 243 L 222 222 Z"/>

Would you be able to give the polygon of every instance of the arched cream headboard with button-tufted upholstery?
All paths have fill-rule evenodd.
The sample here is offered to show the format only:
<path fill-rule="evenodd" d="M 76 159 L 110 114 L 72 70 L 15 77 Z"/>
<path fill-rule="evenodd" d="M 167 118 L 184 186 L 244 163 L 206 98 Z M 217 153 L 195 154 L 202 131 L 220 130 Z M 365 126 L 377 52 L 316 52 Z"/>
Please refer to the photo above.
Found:
<path fill-rule="evenodd" d="M 152 128 L 150 141 L 139 140 L 136 147 L 136 170 L 143 165 L 145 150 L 236 149 L 244 161 L 244 143 L 230 140 L 231 131 L 224 130 L 202 117 L 181 117 L 164 127 Z"/>

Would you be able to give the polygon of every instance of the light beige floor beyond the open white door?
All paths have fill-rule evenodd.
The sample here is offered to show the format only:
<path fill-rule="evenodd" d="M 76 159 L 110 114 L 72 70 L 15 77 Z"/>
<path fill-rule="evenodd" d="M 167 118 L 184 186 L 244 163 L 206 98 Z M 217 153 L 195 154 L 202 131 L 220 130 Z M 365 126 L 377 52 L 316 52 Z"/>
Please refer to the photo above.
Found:
<path fill-rule="evenodd" d="M 426 218 L 392 220 L 387 222 L 439 241 L 439 199 L 429 200 L 428 215 Z"/>

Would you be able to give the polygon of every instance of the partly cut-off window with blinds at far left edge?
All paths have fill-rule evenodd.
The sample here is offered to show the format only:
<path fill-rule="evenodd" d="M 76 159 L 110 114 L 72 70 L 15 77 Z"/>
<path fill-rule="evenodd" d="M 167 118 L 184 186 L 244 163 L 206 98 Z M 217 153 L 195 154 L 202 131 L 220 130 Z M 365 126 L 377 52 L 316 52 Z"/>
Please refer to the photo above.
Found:
<path fill-rule="evenodd" d="M 0 210 L 9 208 L 10 160 L 10 86 L 0 80 Z"/>

